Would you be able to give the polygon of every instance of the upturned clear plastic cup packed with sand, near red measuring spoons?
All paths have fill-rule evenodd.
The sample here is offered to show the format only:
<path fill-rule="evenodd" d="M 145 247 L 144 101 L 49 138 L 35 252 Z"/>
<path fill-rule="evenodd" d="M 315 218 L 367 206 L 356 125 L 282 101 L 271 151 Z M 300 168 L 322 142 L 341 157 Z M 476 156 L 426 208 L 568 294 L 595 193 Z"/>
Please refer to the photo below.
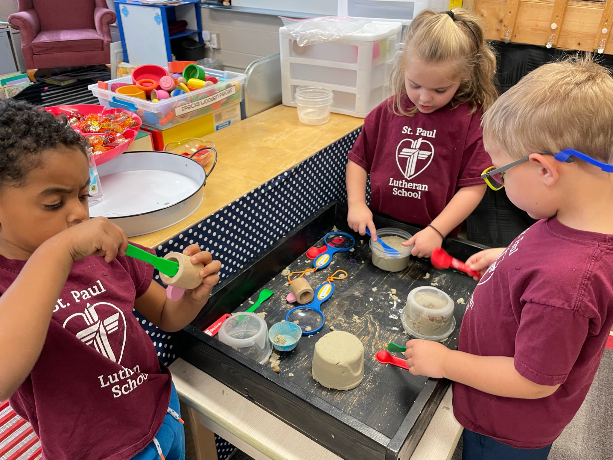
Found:
<path fill-rule="evenodd" d="M 402 326 L 417 339 L 444 340 L 455 329 L 455 302 L 433 286 L 420 286 L 406 297 Z"/>

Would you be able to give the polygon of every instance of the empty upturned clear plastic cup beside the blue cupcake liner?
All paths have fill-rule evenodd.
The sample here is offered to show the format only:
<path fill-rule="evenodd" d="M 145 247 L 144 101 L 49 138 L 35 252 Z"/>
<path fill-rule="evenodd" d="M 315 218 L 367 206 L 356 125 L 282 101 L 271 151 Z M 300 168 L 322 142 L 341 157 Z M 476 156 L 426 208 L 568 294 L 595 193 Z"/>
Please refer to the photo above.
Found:
<path fill-rule="evenodd" d="M 234 313 L 221 325 L 219 340 L 230 347 L 245 348 L 257 345 L 265 348 L 268 326 L 264 318 L 256 313 Z"/>

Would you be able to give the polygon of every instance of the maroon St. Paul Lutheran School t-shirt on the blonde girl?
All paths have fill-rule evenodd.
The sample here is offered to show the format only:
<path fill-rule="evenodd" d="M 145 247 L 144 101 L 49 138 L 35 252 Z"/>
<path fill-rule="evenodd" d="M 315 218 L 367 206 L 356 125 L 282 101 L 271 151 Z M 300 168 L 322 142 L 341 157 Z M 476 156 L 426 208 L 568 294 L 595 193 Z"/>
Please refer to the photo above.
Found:
<path fill-rule="evenodd" d="M 459 188 L 484 184 L 481 173 L 492 161 L 481 139 L 481 110 L 470 114 L 470 104 L 453 109 L 450 102 L 404 117 L 390 111 L 393 101 L 368 113 L 349 159 L 370 174 L 371 210 L 427 226 Z M 403 102 L 414 106 L 406 96 Z"/>

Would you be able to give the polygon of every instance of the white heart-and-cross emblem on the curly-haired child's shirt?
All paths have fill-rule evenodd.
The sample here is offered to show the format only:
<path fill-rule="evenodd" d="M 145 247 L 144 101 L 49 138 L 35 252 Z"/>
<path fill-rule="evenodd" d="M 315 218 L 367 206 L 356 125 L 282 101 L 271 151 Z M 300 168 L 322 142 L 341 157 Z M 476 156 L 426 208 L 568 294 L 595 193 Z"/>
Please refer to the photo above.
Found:
<path fill-rule="evenodd" d="M 66 327 L 68 324 L 69 328 Z M 68 316 L 63 328 L 72 331 L 77 339 L 91 345 L 98 353 L 121 364 L 126 346 L 126 318 L 115 305 L 107 302 L 88 303 L 83 313 Z"/>

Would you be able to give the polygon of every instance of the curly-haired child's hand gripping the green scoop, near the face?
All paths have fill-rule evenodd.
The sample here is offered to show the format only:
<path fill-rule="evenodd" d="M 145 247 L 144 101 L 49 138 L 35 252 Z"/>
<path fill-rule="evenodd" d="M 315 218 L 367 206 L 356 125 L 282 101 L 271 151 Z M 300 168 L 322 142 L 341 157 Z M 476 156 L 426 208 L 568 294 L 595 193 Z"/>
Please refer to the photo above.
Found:
<path fill-rule="evenodd" d="M 119 255 L 125 255 L 128 237 L 124 231 L 105 217 L 96 217 L 78 223 L 50 240 L 66 245 L 73 261 L 87 256 L 103 257 L 108 263 Z"/>

